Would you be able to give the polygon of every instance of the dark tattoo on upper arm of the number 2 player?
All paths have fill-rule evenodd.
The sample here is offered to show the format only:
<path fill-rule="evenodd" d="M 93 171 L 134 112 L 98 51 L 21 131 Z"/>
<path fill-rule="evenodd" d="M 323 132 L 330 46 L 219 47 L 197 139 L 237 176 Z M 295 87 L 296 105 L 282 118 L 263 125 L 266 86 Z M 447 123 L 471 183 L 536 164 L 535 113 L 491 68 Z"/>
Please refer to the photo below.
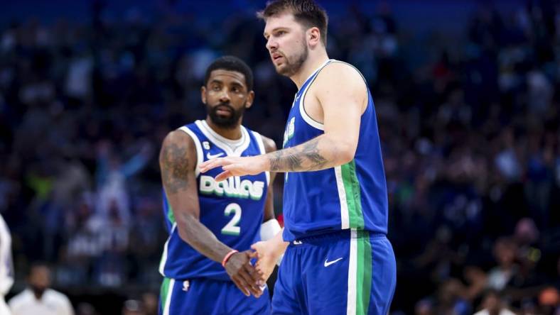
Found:
<path fill-rule="evenodd" d="M 187 148 L 171 143 L 161 153 L 161 177 L 163 185 L 171 194 L 187 187 Z"/>

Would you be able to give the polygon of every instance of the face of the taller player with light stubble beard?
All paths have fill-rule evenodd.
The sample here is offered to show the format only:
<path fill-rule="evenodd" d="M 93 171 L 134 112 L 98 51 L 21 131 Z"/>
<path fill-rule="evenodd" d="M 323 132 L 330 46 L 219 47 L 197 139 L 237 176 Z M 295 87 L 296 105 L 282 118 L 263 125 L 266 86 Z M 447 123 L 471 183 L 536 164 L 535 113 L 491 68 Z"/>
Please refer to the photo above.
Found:
<path fill-rule="evenodd" d="M 306 30 L 296 21 L 294 14 L 286 12 L 266 18 L 264 37 L 276 72 L 286 77 L 296 74 L 306 61 L 309 50 Z"/>

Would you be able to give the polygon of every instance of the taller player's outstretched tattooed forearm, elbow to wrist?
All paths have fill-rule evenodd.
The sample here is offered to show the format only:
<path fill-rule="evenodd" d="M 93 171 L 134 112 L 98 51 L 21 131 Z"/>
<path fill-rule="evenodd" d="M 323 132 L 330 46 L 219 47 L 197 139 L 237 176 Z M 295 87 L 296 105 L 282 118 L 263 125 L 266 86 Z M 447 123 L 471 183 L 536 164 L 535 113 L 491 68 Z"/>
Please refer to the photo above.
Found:
<path fill-rule="evenodd" d="M 343 165 L 350 162 L 353 155 L 349 145 L 323 134 L 301 145 L 267 153 L 264 157 L 271 172 L 307 172 Z"/>

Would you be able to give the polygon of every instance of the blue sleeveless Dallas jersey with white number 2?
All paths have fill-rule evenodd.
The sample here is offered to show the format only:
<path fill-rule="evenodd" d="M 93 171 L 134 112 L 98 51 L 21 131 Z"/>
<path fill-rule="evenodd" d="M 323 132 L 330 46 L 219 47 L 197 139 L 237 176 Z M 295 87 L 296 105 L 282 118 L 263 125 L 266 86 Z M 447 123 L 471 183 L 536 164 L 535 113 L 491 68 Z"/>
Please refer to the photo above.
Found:
<path fill-rule="evenodd" d="M 198 165 L 214 157 L 253 156 L 264 154 L 264 143 L 259 133 L 243 126 L 241 140 L 229 140 L 212 131 L 205 121 L 195 121 L 179 130 L 193 138 L 197 165 L 195 175 L 200 204 L 200 222 L 225 245 L 239 251 L 248 250 L 260 241 L 260 228 L 264 216 L 264 202 L 270 175 L 230 177 L 216 182 L 222 172 L 218 167 L 200 174 Z M 208 278 L 230 280 L 220 263 L 206 258 L 183 241 L 177 231 L 177 223 L 171 205 L 163 192 L 163 211 L 169 238 L 163 248 L 159 272 L 176 280 Z"/>

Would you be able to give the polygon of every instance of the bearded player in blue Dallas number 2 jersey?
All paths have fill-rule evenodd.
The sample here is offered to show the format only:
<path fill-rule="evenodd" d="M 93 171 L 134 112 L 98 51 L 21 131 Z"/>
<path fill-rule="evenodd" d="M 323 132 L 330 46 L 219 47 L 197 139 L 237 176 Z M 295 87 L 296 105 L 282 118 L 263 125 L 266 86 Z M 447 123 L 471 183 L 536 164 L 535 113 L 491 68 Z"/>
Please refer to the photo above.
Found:
<path fill-rule="evenodd" d="M 214 179 L 218 170 L 199 170 L 215 157 L 276 150 L 273 140 L 241 126 L 254 99 L 252 87 L 252 72 L 242 60 L 218 58 L 200 91 L 206 119 L 163 140 L 159 162 L 170 236 L 159 267 L 164 277 L 160 314 L 270 313 L 250 246 L 261 235 L 272 238 L 280 231 L 269 189 L 273 178 L 259 172 L 220 182 Z"/>

